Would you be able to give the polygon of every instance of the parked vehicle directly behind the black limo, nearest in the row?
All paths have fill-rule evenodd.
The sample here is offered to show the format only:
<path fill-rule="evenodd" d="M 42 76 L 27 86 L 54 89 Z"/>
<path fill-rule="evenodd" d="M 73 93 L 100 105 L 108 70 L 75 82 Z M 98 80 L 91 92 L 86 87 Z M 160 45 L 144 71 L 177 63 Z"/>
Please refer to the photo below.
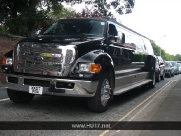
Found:
<path fill-rule="evenodd" d="M 156 81 L 165 79 L 165 65 L 161 56 L 156 56 Z"/>

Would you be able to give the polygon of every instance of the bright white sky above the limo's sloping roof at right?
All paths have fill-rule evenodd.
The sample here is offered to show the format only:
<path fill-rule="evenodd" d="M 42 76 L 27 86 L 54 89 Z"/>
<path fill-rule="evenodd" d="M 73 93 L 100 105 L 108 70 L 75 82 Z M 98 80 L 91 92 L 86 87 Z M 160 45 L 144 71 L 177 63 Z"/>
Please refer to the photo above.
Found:
<path fill-rule="evenodd" d="M 149 39 L 171 55 L 181 54 L 181 0 L 135 0 L 130 14 L 117 20 Z M 81 7 L 81 6 L 79 6 Z M 79 9 L 78 5 L 75 9 Z"/>

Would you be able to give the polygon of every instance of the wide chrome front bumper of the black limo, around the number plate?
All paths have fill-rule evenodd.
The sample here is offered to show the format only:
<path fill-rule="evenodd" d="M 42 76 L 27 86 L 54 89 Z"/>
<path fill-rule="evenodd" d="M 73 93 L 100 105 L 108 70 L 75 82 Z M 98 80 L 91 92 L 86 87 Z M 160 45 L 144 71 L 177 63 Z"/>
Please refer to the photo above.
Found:
<path fill-rule="evenodd" d="M 8 81 L 8 78 L 15 78 L 18 81 L 12 83 Z M 73 97 L 93 97 L 95 95 L 98 81 L 85 81 L 85 80 L 70 80 L 70 79 L 58 79 L 58 78 L 42 78 L 24 75 L 14 75 L 0 73 L 0 84 L 5 88 L 9 88 L 17 91 L 29 92 L 29 86 L 24 81 L 25 80 L 40 80 L 48 81 L 50 83 L 49 87 L 43 87 L 43 95 L 57 95 L 57 96 L 73 96 Z M 57 82 L 72 83 L 74 87 L 69 88 L 57 88 Z M 41 85 L 37 85 L 41 86 Z"/>

